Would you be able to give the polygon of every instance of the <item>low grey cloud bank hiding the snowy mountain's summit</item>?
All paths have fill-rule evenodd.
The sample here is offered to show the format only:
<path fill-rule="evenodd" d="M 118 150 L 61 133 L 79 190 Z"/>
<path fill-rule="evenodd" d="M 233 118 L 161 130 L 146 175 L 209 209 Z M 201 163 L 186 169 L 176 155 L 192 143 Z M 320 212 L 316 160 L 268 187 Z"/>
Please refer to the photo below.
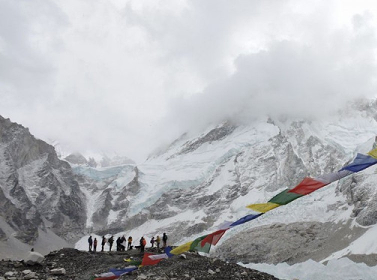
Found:
<path fill-rule="evenodd" d="M 167 119 L 180 115 L 176 126 L 193 128 L 260 115 L 323 118 L 356 99 L 375 98 L 372 19 L 369 12 L 355 14 L 349 27 L 313 26 L 304 39 L 272 39 L 263 49 L 241 54 L 230 76 L 172 101 Z M 307 20 L 312 18 L 301 23 Z"/>

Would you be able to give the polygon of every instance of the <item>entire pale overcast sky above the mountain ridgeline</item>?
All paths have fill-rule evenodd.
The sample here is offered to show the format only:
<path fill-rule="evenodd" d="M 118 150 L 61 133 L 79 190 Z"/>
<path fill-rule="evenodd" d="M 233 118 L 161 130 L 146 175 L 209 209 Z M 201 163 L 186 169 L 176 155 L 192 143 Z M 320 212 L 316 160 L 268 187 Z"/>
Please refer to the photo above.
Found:
<path fill-rule="evenodd" d="M 325 116 L 377 92 L 377 4 L 0 0 L 0 115 L 141 161 L 228 118 Z"/>

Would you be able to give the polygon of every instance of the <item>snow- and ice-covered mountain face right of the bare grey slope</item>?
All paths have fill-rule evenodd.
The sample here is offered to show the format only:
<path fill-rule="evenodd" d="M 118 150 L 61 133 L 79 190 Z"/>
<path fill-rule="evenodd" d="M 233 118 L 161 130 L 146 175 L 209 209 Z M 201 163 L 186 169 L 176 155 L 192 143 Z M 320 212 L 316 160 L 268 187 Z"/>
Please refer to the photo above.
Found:
<path fill-rule="evenodd" d="M 304 176 L 336 171 L 356 152 L 370 150 L 376 109 L 364 102 L 326 120 L 226 121 L 196 137 L 183 134 L 137 166 L 73 167 L 92 213 L 86 226 L 98 235 L 166 231 L 170 243 L 192 240 L 249 213 L 245 205 L 268 201 Z M 350 175 L 228 230 L 212 254 L 245 263 L 329 257 L 377 221 L 374 171 Z M 86 247 L 85 237 L 76 247 Z"/>

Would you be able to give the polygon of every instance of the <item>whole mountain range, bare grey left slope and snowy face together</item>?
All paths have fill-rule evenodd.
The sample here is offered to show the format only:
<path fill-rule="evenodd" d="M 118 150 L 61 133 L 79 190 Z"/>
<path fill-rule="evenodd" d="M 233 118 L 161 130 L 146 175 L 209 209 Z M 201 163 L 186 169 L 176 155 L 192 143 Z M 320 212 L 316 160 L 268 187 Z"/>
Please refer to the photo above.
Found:
<path fill-rule="evenodd" d="M 370 150 L 376 115 L 375 102 L 358 102 L 325 120 L 228 120 L 183 134 L 141 164 L 101 167 L 59 160 L 52 146 L 1 119 L 0 203 L 14 214 L 0 212 L 0 242 L 15 234 L 32 243 L 29 232 L 46 228 L 69 241 L 83 233 L 137 239 L 162 232 L 170 244 L 192 240 L 250 213 L 247 204 L 266 202 L 303 177 L 336 171 Z M 370 167 L 236 226 L 211 253 L 243 263 L 343 255 L 366 262 L 377 253 L 377 245 L 359 249 L 375 230 L 376 176 Z M 20 237 L 24 232 L 28 239 Z M 86 239 L 75 246 L 86 249 Z"/>

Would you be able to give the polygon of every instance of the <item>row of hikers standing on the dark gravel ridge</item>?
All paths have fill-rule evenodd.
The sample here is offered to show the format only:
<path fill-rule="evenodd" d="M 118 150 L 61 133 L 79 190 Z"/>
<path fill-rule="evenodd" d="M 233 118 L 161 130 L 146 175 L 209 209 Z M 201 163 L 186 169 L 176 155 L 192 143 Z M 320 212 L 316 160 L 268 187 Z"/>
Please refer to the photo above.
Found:
<path fill-rule="evenodd" d="M 156 243 L 156 246 L 157 248 L 159 248 L 159 244 L 161 242 L 161 239 L 162 239 L 162 247 L 165 248 L 166 247 L 166 243 L 167 243 L 167 235 L 165 232 L 163 232 L 162 234 L 162 238 L 159 237 L 159 235 L 157 235 L 156 238 L 154 238 L 154 236 L 150 239 L 150 244 L 151 244 L 151 248 L 154 247 L 154 243 Z M 110 238 L 108 238 L 108 240 L 102 236 L 102 241 L 101 241 L 101 252 L 103 252 L 103 247 L 104 245 L 106 244 L 106 241 L 108 242 L 108 245 L 109 245 L 109 251 L 111 251 L 111 248 L 112 248 L 112 243 L 114 242 L 114 236 L 111 235 Z M 87 239 L 87 242 L 89 244 L 89 252 L 91 251 L 97 251 L 97 238 L 94 237 L 94 240 L 92 239 L 91 235 L 89 236 L 89 238 Z M 132 236 L 129 236 L 127 241 L 124 237 L 124 235 L 122 237 L 118 237 L 116 239 L 116 250 L 117 251 L 124 251 L 125 250 L 125 246 L 127 245 L 127 250 L 131 250 L 133 248 L 133 245 L 132 245 Z M 144 252 L 144 248 L 146 246 L 146 240 L 144 238 L 144 236 L 141 236 L 140 240 L 139 240 L 139 247 L 140 247 L 140 252 Z M 138 246 L 136 246 L 138 247 Z"/>

